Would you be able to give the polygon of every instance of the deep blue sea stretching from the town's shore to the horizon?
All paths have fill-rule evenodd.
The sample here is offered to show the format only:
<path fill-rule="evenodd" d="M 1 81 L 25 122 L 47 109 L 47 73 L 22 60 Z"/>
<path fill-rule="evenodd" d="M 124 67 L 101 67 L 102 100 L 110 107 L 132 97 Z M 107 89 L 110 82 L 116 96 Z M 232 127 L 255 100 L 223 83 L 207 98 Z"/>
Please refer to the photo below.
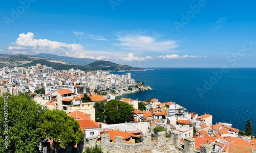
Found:
<path fill-rule="evenodd" d="M 256 68 L 154 68 L 111 73 L 128 72 L 153 90 L 123 97 L 173 101 L 188 112 L 211 114 L 213 124 L 228 122 L 243 131 L 249 118 L 256 134 Z"/>

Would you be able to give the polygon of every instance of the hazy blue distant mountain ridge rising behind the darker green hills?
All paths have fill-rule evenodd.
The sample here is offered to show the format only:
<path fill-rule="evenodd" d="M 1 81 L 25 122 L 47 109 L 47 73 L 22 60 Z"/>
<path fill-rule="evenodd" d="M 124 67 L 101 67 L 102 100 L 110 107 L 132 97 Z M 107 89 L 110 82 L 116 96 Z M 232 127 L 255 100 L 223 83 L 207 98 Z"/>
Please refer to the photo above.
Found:
<path fill-rule="evenodd" d="M 87 65 L 92 62 L 98 61 L 98 60 L 89 59 L 89 58 L 74 58 L 74 57 L 58 56 L 58 55 L 45 54 L 45 53 L 36 54 L 34 56 L 60 60 L 60 61 L 74 64 L 74 65 Z"/>

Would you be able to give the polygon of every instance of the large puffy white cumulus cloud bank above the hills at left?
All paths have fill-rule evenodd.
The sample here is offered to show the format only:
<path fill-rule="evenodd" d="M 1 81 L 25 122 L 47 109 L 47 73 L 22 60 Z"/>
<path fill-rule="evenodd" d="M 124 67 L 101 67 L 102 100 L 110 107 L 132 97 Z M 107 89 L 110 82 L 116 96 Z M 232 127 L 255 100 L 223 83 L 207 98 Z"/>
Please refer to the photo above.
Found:
<path fill-rule="evenodd" d="M 75 35 L 82 34 L 81 32 L 74 32 Z M 48 53 L 60 56 L 103 59 L 109 52 L 85 50 L 80 44 L 67 44 L 48 39 L 34 39 L 33 33 L 19 34 L 15 45 L 8 47 L 8 51 L 12 54 L 39 54 Z M 105 57 L 107 58 L 107 57 Z"/>

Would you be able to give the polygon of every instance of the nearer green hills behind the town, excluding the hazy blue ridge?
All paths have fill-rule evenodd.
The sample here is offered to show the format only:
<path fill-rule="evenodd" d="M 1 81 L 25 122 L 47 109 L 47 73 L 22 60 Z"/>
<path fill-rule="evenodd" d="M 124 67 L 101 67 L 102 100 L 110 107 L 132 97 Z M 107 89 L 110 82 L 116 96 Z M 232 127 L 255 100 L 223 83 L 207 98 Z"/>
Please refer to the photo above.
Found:
<path fill-rule="evenodd" d="M 110 61 L 95 61 L 90 64 L 81 66 L 74 65 L 68 62 L 63 62 L 61 60 L 42 58 L 29 55 L 10 55 L 10 56 L 1 56 L 0 55 L 0 67 L 9 66 L 9 67 L 25 67 L 33 66 L 37 63 L 41 65 L 51 66 L 56 70 L 68 70 L 71 68 L 80 69 L 83 71 L 88 70 L 109 70 L 109 71 L 124 71 L 124 70 L 144 70 L 138 67 L 132 67 L 128 65 L 120 65 Z"/>

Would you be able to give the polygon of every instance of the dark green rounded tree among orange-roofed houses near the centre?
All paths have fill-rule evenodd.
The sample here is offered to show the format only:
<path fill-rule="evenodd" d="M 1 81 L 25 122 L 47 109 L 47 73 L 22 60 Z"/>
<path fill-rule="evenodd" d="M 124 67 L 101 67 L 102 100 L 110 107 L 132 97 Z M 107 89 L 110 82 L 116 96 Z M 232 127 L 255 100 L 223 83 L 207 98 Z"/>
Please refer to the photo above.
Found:
<path fill-rule="evenodd" d="M 134 121 L 132 105 L 119 100 L 110 100 L 105 104 L 105 122 L 108 124 L 124 123 Z"/>

